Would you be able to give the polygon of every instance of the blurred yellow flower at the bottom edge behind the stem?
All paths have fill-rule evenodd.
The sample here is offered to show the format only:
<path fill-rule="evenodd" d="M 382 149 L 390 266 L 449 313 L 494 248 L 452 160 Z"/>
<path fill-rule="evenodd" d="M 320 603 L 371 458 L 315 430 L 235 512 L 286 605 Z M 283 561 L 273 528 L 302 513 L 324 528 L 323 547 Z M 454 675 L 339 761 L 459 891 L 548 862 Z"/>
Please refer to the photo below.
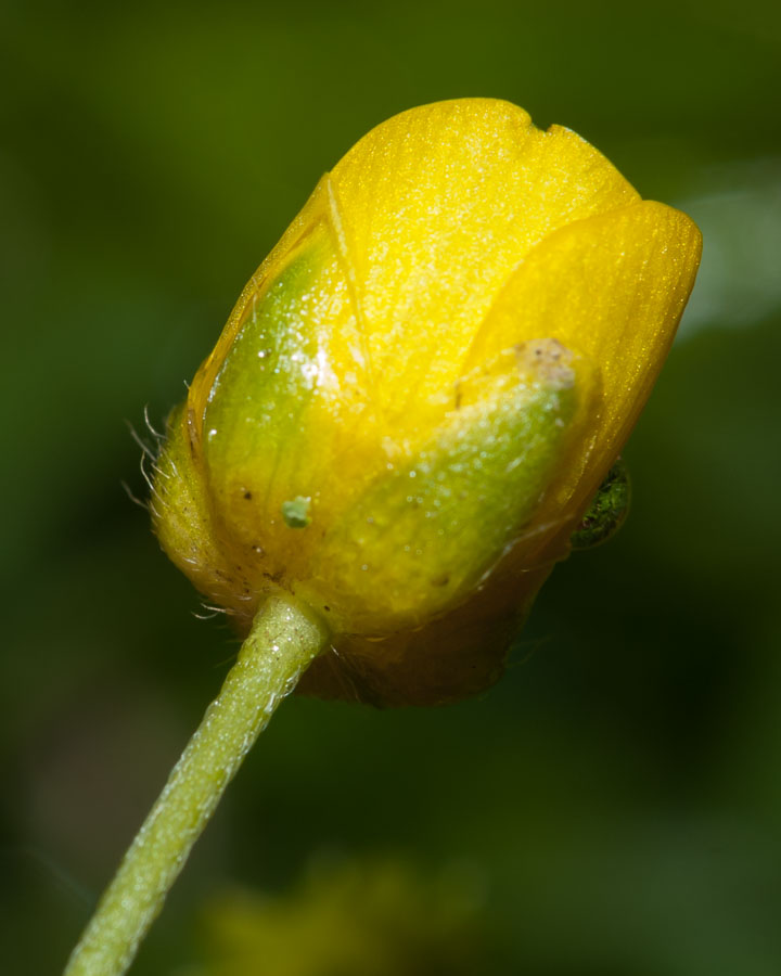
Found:
<path fill-rule="evenodd" d="M 322 861 L 284 896 L 212 899 L 193 976 L 474 974 L 486 949 L 481 887 L 469 865 L 424 875 L 399 859 Z"/>

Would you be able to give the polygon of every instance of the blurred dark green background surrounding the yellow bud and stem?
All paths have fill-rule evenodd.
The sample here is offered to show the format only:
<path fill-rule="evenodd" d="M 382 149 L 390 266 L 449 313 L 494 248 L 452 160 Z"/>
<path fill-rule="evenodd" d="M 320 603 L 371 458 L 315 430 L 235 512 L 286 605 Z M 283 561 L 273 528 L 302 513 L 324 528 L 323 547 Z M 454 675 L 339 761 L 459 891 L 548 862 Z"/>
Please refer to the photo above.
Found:
<path fill-rule="evenodd" d="M 235 653 L 126 421 L 357 138 L 491 95 L 703 229 L 632 516 L 483 698 L 287 702 L 133 972 L 777 976 L 779 4 L 5 0 L 0 76 L 3 972 L 60 972 Z"/>

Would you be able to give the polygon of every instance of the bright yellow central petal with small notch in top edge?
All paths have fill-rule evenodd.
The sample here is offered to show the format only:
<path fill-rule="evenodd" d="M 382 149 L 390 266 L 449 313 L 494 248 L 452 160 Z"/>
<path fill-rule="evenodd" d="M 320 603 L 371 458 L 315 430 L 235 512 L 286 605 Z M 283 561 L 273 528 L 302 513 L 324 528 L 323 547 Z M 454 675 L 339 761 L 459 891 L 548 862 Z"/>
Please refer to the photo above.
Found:
<path fill-rule="evenodd" d="M 375 399 L 402 425 L 458 380 L 476 323 L 539 241 L 639 201 L 580 137 L 490 99 L 395 116 L 338 163 L 329 192 Z"/>

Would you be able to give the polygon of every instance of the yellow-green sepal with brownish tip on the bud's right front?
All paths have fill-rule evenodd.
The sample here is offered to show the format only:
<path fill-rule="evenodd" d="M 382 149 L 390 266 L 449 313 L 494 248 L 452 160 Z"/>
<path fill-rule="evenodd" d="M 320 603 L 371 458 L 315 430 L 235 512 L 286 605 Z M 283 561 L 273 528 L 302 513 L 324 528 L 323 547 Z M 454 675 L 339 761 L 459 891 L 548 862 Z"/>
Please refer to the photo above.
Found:
<path fill-rule="evenodd" d="M 453 409 L 412 455 L 388 464 L 318 548 L 321 593 L 372 629 L 428 619 L 478 587 L 534 531 L 590 388 L 553 339 L 504 350 L 458 384 Z"/>

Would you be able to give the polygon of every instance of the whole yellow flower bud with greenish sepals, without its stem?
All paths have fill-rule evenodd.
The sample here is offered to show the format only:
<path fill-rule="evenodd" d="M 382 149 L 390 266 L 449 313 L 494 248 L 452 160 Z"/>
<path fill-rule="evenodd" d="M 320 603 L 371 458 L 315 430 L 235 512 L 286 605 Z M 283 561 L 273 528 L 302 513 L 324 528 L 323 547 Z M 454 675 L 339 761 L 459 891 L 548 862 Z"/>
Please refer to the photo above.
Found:
<path fill-rule="evenodd" d="M 507 102 L 389 119 L 318 183 L 171 414 L 164 549 L 241 630 L 278 589 L 328 619 L 304 690 L 479 691 L 648 398 L 700 248 Z"/>

